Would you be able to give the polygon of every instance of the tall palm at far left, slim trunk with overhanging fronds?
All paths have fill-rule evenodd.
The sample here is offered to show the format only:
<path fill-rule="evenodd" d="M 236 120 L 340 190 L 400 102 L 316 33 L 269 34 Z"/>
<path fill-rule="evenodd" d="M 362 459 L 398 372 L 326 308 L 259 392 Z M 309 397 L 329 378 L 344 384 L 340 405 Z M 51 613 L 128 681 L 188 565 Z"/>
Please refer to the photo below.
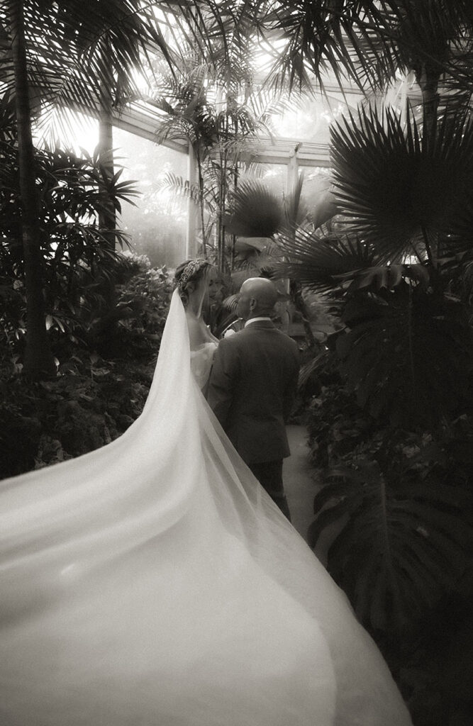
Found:
<path fill-rule="evenodd" d="M 44 103 L 60 101 L 94 107 L 100 84 L 108 80 L 113 62 L 129 72 L 140 62 L 140 44 L 161 41 L 149 19 L 137 15 L 137 0 L 101 0 L 94 8 L 72 1 L 67 8 L 45 0 L 7 0 L 1 22 L 11 51 L 2 58 L 0 80 L 15 92 L 18 123 L 20 184 L 23 198 L 23 249 L 27 327 L 24 372 L 38 379 L 53 375 L 52 354 L 44 325 L 43 259 L 39 245 L 39 205 L 32 142 L 31 86 L 41 89 Z M 113 19 L 113 20 L 111 20 Z M 100 48 L 104 28 L 116 25 L 116 44 L 108 56 Z M 139 22 L 137 22 L 139 21 Z M 132 30 L 134 34 L 130 32 Z M 13 73 L 11 73 L 11 69 Z M 111 92 L 112 89 L 110 89 Z"/>

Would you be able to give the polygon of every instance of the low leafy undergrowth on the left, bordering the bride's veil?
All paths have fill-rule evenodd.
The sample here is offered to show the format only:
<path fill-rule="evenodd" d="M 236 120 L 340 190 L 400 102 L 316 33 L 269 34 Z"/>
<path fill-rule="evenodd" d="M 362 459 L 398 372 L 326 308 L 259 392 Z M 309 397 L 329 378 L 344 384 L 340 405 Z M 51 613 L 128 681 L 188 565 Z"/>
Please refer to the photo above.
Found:
<path fill-rule="evenodd" d="M 60 355 L 55 380 L 23 380 L 20 366 L 9 361 L 8 341 L 0 344 L 0 478 L 97 449 L 140 415 L 166 321 L 171 277 L 133 257 L 124 259 L 119 274 L 116 303 L 110 305 L 116 315 L 104 307 L 92 319 L 76 317 L 76 335 L 66 327 L 52 331 Z"/>

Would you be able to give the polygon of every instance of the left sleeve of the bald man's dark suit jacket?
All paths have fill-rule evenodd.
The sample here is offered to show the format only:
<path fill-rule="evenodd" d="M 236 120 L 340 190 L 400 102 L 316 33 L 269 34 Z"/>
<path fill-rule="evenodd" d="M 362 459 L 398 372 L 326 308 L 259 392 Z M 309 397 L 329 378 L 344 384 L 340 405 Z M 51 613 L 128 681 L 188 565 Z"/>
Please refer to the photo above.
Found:
<path fill-rule="evenodd" d="M 238 375 L 238 359 L 233 353 L 230 341 L 231 338 L 223 338 L 219 342 L 207 391 L 209 406 L 224 429 L 233 402 L 235 378 Z"/>

